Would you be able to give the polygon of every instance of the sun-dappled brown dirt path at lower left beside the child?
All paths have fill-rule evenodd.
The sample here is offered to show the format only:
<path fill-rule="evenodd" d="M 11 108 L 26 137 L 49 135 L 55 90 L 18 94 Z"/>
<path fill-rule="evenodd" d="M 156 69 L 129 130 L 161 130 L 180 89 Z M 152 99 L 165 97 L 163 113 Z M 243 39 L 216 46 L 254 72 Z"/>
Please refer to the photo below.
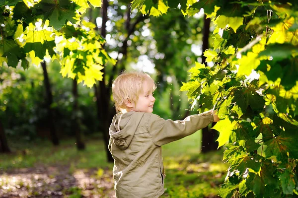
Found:
<path fill-rule="evenodd" d="M 0 198 L 115 198 L 112 173 L 70 166 L 0 172 Z"/>

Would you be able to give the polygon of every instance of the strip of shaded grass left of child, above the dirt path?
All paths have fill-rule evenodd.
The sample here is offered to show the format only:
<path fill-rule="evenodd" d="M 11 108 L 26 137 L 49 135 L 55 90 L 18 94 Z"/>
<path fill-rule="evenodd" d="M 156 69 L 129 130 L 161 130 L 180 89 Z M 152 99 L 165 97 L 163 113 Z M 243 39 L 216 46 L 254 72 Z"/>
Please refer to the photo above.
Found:
<path fill-rule="evenodd" d="M 49 141 L 10 144 L 12 154 L 1 154 L 0 169 L 28 168 L 42 165 L 70 165 L 72 168 L 93 168 L 113 166 L 106 161 L 106 152 L 101 139 L 88 140 L 86 149 L 78 151 L 75 140 L 63 140 L 61 145 L 53 146 Z"/>

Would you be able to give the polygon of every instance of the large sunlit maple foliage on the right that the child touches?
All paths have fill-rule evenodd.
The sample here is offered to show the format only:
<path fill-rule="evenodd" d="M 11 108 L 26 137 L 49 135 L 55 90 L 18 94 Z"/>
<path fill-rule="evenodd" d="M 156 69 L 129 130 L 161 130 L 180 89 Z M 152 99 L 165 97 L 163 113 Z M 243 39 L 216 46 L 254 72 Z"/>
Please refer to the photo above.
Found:
<path fill-rule="evenodd" d="M 219 110 L 214 128 L 230 164 L 220 196 L 298 195 L 297 3 L 134 0 L 132 6 L 163 13 L 160 1 L 169 8 L 180 3 L 188 16 L 204 8 L 215 24 L 213 49 L 204 54 L 213 66 L 197 63 L 181 90 L 200 111 Z"/>

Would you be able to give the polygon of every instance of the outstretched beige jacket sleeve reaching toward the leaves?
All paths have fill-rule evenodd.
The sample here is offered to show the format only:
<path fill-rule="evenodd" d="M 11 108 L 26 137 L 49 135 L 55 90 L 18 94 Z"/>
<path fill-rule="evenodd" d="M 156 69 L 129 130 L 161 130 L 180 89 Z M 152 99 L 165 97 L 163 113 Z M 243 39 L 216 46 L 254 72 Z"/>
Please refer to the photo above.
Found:
<path fill-rule="evenodd" d="M 211 112 L 191 115 L 184 120 L 164 120 L 155 114 L 151 114 L 148 120 L 148 131 L 156 146 L 161 146 L 191 135 L 200 129 L 207 127 L 214 121 Z"/>

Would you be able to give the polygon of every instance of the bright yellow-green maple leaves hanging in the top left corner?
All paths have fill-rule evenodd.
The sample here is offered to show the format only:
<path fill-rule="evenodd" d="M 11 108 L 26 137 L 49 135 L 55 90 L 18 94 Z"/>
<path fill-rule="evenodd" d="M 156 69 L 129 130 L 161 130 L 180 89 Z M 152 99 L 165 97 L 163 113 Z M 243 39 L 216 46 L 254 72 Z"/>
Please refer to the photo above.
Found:
<path fill-rule="evenodd" d="M 44 59 L 58 59 L 63 76 L 92 87 L 110 61 L 95 25 L 81 20 L 97 0 L 14 0 L 0 4 L 0 65 L 24 68 Z M 67 22 L 67 25 L 65 25 Z"/>

